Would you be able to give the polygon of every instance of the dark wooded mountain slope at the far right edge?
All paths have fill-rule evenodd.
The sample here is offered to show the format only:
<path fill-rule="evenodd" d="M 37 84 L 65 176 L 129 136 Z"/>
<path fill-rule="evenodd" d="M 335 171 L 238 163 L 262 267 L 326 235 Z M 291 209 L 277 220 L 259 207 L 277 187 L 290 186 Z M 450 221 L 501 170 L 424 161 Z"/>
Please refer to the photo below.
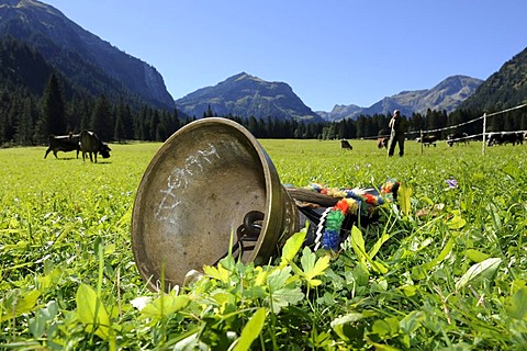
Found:
<path fill-rule="evenodd" d="M 497 111 L 527 103 L 527 48 L 491 75 L 460 109 Z"/>

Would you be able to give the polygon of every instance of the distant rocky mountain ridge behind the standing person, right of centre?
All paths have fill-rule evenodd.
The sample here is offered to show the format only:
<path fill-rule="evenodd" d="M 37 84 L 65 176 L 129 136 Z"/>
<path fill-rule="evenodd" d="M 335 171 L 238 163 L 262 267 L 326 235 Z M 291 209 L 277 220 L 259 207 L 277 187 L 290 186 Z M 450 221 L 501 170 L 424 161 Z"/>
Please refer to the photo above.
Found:
<path fill-rule="evenodd" d="M 411 116 L 414 112 L 426 113 L 428 109 L 451 112 L 473 94 L 482 82 L 476 78 L 452 76 L 431 89 L 402 91 L 399 94 L 382 99 L 370 107 L 335 105 L 328 114 L 317 113 L 325 115 L 328 121 L 340 121 L 343 118 L 356 118 L 359 115 L 388 114 L 392 113 L 393 110 L 400 110 L 406 116 Z"/>

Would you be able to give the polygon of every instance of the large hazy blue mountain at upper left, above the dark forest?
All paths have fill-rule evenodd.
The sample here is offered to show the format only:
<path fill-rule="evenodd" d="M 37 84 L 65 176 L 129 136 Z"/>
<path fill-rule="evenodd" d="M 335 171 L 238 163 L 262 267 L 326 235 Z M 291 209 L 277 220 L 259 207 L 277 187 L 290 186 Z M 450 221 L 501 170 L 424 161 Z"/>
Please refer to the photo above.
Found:
<path fill-rule="evenodd" d="M 175 106 L 154 67 L 83 30 L 48 4 L 3 0 L 0 36 L 31 45 L 72 84 L 93 95 L 135 97 L 159 107 Z"/>

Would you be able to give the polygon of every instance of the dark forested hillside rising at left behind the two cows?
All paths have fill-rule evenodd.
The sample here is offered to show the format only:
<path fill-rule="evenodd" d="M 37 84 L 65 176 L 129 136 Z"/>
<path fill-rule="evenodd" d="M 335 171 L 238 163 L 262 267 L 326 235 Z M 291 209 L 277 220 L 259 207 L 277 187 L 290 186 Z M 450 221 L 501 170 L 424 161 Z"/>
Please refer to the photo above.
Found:
<path fill-rule="evenodd" d="M 138 102 L 137 100 L 136 102 Z M 0 39 L 0 145 L 40 145 L 49 134 L 96 131 L 104 140 L 164 140 L 179 127 L 176 110 L 93 97 L 29 45 Z"/>

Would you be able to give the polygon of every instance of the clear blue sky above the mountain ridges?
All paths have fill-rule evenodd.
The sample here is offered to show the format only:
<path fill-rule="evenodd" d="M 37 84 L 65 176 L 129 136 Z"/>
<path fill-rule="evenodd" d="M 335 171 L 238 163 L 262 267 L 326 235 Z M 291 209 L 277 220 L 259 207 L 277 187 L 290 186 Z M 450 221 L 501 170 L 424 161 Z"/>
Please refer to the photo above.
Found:
<path fill-rule="evenodd" d="M 45 0 L 156 67 L 175 99 L 245 71 L 314 111 L 447 77 L 486 79 L 527 47 L 525 0 Z"/>

